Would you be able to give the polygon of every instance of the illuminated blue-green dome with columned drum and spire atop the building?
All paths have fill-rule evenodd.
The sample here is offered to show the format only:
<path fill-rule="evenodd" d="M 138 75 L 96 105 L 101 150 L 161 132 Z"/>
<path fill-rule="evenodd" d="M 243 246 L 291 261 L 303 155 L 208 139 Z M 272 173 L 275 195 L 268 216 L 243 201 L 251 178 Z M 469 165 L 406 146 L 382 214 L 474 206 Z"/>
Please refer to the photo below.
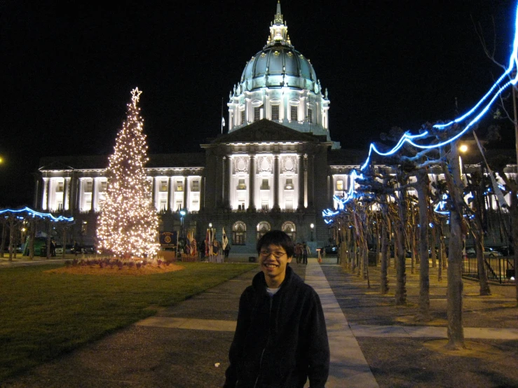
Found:
<path fill-rule="evenodd" d="M 229 95 L 229 132 L 266 118 L 299 132 L 329 137 L 329 99 L 313 65 L 292 46 L 280 2 L 266 46 L 245 65 Z M 339 148 L 333 143 L 333 148 Z"/>

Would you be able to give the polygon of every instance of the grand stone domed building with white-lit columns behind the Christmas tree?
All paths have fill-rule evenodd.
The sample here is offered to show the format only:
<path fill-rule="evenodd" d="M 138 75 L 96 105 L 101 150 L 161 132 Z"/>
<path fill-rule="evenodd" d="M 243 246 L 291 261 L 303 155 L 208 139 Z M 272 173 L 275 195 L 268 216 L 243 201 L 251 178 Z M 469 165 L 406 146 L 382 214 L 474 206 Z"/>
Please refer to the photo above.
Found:
<path fill-rule="evenodd" d="M 242 256 L 272 229 L 313 248 L 328 244 L 322 210 L 336 207 L 333 196 L 348 190 L 348 172 L 363 156 L 332 141 L 329 104 L 310 60 L 292 46 L 278 3 L 266 46 L 229 95 L 229 131 L 200 153 L 149 155 L 161 232 L 192 232 L 200 241 L 207 228 L 218 240 L 224 229 L 231 255 Z M 107 157 L 42 158 L 40 166 L 34 206 L 74 216 L 67 239 L 95 244 Z"/>

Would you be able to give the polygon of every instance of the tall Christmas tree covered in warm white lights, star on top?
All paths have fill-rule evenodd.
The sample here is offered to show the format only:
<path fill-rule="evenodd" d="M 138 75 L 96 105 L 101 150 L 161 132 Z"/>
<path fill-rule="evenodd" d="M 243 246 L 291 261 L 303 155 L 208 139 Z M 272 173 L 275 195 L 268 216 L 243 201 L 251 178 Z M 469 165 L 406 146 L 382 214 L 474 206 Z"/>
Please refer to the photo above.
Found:
<path fill-rule="evenodd" d="M 158 215 L 144 172 L 149 158 L 137 106 L 141 93 L 138 88 L 131 91 L 128 116 L 109 157 L 107 193 L 97 222 L 99 249 L 119 258 L 154 257 L 159 247 Z"/>

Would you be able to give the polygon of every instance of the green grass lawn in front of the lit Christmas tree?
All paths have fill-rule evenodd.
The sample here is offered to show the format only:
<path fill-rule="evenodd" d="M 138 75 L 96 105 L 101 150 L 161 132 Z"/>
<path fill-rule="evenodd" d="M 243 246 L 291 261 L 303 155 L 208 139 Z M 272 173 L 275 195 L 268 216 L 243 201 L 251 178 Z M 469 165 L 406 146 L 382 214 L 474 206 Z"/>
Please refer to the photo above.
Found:
<path fill-rule="evenodd" d="M 55 265 L 1 269 L 0 382 L 257 267 L 182 265 L 147 276 L 44 272 Z"/>

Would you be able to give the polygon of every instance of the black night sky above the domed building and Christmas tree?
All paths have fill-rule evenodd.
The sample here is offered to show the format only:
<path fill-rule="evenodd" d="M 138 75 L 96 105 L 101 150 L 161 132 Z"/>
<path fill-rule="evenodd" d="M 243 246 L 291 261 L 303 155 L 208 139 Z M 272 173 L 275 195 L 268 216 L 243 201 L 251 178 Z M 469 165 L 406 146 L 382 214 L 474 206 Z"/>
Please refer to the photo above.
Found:
<path fill-rule="evenodd" d="M 45 155 L 107 155 L 130 90 L 150 153 L 200 151 L 220 132 L 221 99 L 266 44 L 276 0 L 0 4 L 0 207 L 32 205 Z M 294 47 L 331 100 L 343 148 L 395 125 L 463 112 L 498 78 L 472 20 L 507 63 L 514 1 L 282 0 Z M 496 39 L 493 34 L 495 20 Z M 227 119 L 228 114 L 225 114 Z"/>

